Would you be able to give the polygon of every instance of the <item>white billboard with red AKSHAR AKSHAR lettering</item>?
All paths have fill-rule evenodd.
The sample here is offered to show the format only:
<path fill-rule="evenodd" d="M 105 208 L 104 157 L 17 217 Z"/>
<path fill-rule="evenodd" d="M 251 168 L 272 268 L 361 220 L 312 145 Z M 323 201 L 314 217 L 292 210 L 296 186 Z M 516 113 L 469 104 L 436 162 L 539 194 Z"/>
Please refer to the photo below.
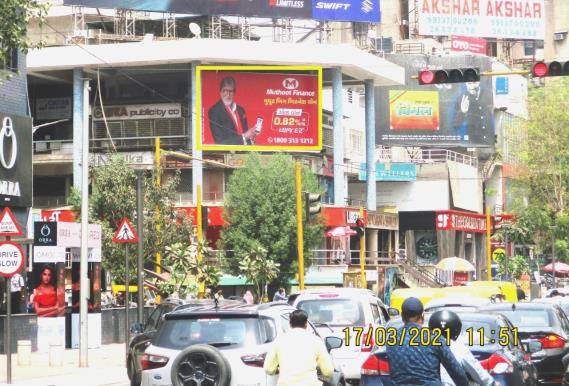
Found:
<path fill-rule="evenodd" d="M 417 10 L 419 35 L 526 40 L 545 35 L 544 0 L 421 0 Z"/>

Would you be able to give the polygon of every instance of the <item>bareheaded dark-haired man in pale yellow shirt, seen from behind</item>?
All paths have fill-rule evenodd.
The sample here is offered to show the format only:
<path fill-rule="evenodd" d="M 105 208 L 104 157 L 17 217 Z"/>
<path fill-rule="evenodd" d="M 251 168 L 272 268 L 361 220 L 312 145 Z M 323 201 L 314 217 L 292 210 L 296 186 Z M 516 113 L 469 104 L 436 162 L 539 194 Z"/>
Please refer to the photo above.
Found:
<path fill-rule="evenodd" d="M 326 379 L 334 374 L 324 342 L 307 330 L 308 314 L 303 310 L 294 310 L 289 323 L 290 330 L 276 339 L 267 354 L 265 372 L 274 375 L 278 371 L 278 386 L 322 386 L 316 368 Z"/>

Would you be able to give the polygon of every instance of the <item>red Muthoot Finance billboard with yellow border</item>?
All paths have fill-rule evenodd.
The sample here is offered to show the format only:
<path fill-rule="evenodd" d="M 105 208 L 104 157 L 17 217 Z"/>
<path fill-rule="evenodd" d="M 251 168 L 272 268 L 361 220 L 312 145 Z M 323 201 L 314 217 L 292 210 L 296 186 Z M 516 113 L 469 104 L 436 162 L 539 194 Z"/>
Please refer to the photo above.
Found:
<path fill-rule="evenodd" d="M 322 68 L 198 66 L 200 150 L 320 151 Z"/>

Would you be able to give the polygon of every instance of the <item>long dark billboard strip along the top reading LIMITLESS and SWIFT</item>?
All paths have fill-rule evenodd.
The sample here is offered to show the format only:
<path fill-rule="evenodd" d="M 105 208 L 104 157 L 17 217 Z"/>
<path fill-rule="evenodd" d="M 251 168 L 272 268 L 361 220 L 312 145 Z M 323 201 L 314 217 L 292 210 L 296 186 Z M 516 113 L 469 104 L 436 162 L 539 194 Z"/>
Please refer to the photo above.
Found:
<path fill-rule="evenodd" d="M 380 22 L 379 0 L 63 0 L 63 4 L 198 15 Z"/>

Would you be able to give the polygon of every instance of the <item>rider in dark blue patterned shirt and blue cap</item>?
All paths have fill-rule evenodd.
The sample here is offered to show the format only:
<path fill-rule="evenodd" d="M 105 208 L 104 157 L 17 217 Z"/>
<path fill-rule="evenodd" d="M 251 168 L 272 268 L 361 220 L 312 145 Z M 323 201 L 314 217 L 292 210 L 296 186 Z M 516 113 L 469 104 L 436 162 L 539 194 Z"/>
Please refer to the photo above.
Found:
<path fill-rule="evenodd" d="M 413 334 L 407 333 L 408 330 L 423 328 L 424 316 L 421 301 L 414 297 L 407 298 L 403 302 L 401 311 L 404 325 L 397 329 L 396 344 L 386 347 L 393 383 L 397 386 L 442 386 L 440 376 L 442 364 L 457 386 L 468 386 L 466 373 L 446 342 L 441 342 L 441 345 L 432 342 L 410 344 Z"/>

